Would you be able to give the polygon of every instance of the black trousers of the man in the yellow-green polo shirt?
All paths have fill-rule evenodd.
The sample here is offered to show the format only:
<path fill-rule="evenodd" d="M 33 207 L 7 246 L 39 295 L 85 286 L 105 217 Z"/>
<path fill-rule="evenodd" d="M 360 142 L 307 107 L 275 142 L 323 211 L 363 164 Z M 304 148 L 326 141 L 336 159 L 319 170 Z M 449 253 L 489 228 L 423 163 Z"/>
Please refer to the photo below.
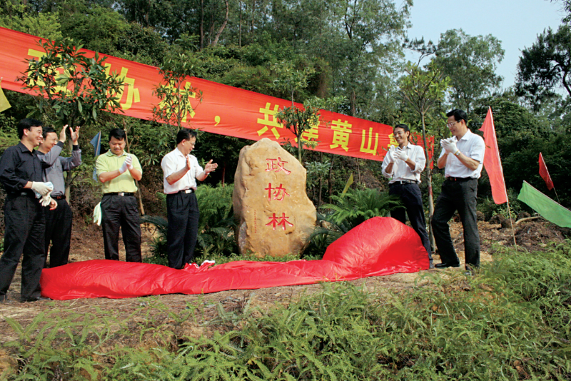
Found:
<path fill-rule="evenodd" d="M 141 262 L 141 222 L 134 195 L 103 195 L 101 228 L 105 259 L 119 260 L 119 228 L 123 233 L 125 259 Z"/>

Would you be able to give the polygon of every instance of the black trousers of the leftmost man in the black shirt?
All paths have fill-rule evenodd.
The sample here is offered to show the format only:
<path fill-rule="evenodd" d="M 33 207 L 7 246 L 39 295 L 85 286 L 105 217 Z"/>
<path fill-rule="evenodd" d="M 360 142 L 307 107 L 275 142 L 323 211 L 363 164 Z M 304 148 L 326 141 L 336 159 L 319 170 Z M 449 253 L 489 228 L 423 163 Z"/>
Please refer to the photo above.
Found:
<path fill-rule="evenodd" d="M 39 200 L 29 195 L 6 197 L 4 203 L 4 253 L 0 258 L 0 295 L 6 295 L 21 255 L 21 299 L 40 296 L 41 269 L 46 256 L 44 230 L 46 220 L 44 207 Z"/>

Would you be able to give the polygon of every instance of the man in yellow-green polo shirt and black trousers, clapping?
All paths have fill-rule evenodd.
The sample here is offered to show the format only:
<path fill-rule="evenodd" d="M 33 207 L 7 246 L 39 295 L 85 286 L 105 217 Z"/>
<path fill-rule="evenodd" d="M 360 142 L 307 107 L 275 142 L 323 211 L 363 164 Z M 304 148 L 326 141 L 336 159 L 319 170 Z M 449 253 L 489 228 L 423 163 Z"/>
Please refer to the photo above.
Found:
<path fill-rule="evenodd" d="M 136 156 L 125 152 L 125 131 L 109 132 L 109 151 L 98 156 L 95 168 L 103 183 L 101 227 L 105 259 L 119 259 L 119 228 L 123 233 L 127 262 L 141 262 L 141 225 L 135 180 L 143 177 Z"/>

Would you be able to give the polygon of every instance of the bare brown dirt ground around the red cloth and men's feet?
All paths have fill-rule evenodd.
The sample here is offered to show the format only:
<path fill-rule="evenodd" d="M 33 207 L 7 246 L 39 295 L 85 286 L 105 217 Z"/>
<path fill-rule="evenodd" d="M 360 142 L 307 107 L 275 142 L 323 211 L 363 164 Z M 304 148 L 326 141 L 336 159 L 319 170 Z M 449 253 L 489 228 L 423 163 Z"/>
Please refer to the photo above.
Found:
<path fill-rule="evenodd" d="M 500 224 L 480 221 L 480 240 L 482 243 L 482 261 L 491 261 L 493 258 L 492 243 L 499 245 L 512 245 L 512 230 L 502 228 Z M 80 224 L 81 225 L 81 224 Z M 462 225 L 458 222 L 450 223 L 450 231 L 453 236 L 456 250 L 460 260 L 464 260 Z M 568 229 L 560 229 L 542 219 L 528 220 L 519 223 L 515 227 L 517 244 L 530 251 L 542 250 L 551 241 L 561 241 L 565 235 L 569 236 Z M 148 242 L 153 235 L 152 228 L 143 229 L 143 256 L 151 255 Z M 90 225 L 83 229 L 76 229 L 71 240 L 71 261 L 103 259 L 103 238 L 101 228 Z M 124 260 L 124 250 L 122 251 Z M 440 263 L 440 257 L 435 255 L 435 263 Z M 19 303 L 19 290 L 21 274 L 20 268 L 11 284 L 9 295 L 11 303 L 0 304 L 0 343 L 6 343 L 18 339 L 18 335 L 12 329 L 6 319 L 15 320 L 20 325 L 26 326 L 41 312 L 53 313 L 64 317 L 66 315 L 85 316 L 111 316 L 117 320 L 131 319 L 133 322 L 143 323 L 153 321 L 160 322 L 163 329 L 173 332 L 175 337 L 208 335 L 208 322 L 215 321 L 218 317 L 219 305 L 224 311 L 259 308 L 268 310 L 275 305 L 288 305 L 300 295 L 316 293 L 323 285 L 300 285 L 276 288 L 264 288 L 260 290 L 230 290 L 221 293 L 207 295 L 159 295 L 146 298 L 128 299 L 78 299 L 78 300 L 47 300 L 36 303 Z M 366 287 L 369 292 L 382 295 L 387 291 L 406 290 L 418 287 L 430 280 L 425 276 L 427 273 L 444 273 L 453 275 L 453 272 L 463 272 L 460 268 L 443 270 L 428 270 L 412 274 L 394 274 L 384 277 L 364 278 L 354 280 L 351 283 Z M 177 314 L 182 314 L 188 308 L 196 308 L 192 319 L 185 322 L 176 320 Z M 133 324 L 133 333 L 145 329 L 145 324 Z M 210 328 L 211 329 L 211 328 Z M 143 335 L 133 335 L 133 339 L 123 337 L 121 345 L 129 345 L 128 340 L 136 340 L 133 346 L 143 345 L 146 340 Z M 141 337 L 141 341 L 139 341 Z M 149 340 L 155 340 L 151 337 Z M 149 342 L 148 345 L 152 343 Z M 111 344 L 112 345 L 112 344 Z M 0 350 L 0 373 L 3 364 L 9 359 L 6 353 Z"/>

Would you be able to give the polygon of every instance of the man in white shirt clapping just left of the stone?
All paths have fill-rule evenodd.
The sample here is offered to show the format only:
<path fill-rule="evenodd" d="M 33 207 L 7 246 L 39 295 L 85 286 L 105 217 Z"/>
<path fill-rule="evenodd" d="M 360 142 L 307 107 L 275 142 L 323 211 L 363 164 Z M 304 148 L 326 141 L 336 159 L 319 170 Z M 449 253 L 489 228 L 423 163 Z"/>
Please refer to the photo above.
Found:
<path fill-rule="evenodd" d="M 166 193 L 168 228 L 166 245 L 168 266 L 184 268 L 192 263 L 198 237 L 198 203 L 196 180 L 205 181 L 218 164 L 208 161 L 204 170 L 191 151 L 196 145 L 196 131 L 183 128 L 176 134 L 176 148 L 161 162 Z"/>

